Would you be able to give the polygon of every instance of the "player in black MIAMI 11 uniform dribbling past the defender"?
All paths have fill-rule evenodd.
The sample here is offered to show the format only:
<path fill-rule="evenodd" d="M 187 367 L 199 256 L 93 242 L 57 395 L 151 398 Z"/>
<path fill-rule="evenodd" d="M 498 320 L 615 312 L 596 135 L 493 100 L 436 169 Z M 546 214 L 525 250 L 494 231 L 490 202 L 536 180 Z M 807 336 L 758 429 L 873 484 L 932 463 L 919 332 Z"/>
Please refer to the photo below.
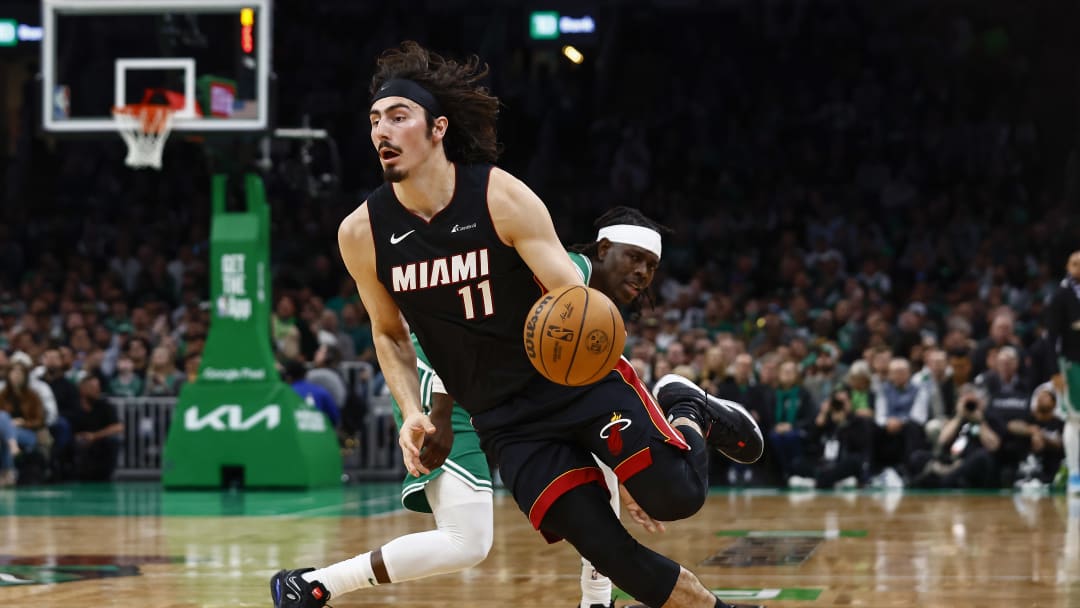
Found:
<path fill-rule="evenodd" d="M 525 356 L 522 327 L 532 302 L 545 287 L 581 285 L 582 278 L 543 203 L 489 164 L 498 152 L 498 100 L 478 85 L 486 71 L 476 58 L 445 60 L 415 43 L 383 54 L 369 118 L 387 184 L 338 232 L 402 408 L 406 467 L 428 472 L 420 448 L 434 432 L 419 405 L 411 329 L 549 540 L 568 540 L 648 606 L 727 606 L 630 536 L 607 504 L 592 454 L 649 516 L 679 519 L 704 502 L 706 445 L 739 451 L 733 424 L 696 387 L 661 393 L 669 423 L 629 365 L 568 388 L 541 377 Z M 615 429 L 618 445 L 607 441 Z M 300 570 L 271 580 L 278 607 L 318 608 L 329 591 Z"/>

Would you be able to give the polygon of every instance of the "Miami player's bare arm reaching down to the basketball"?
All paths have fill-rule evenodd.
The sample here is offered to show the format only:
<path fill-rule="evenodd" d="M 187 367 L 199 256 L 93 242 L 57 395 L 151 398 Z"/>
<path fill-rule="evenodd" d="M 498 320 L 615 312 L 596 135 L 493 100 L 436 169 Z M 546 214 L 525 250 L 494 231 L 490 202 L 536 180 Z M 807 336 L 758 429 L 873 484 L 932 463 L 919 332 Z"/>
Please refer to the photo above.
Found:
<path fill-rule="evenodd" d="M 499 239 L 517 249 L 517 255 L 544 287 L 584 285 L 558 241 L 548 207 L 528 186 L 494 168 L 488 181 L 487 205 Z"/>

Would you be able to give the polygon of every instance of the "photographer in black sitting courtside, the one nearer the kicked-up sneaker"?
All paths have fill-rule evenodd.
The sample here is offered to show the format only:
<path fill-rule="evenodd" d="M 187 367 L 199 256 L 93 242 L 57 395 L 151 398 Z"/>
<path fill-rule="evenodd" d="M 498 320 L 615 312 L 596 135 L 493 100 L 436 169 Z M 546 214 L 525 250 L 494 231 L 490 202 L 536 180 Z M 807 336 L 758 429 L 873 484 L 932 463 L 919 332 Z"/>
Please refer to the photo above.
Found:
<path fill-rule="evenodd" d="M 807 429 L 806 454 L 793 467 L 791 487 L 854 487 L 866 481 L 874 422 L 858 416 L 851 390 L 840 384 L 821 404 Z"/>

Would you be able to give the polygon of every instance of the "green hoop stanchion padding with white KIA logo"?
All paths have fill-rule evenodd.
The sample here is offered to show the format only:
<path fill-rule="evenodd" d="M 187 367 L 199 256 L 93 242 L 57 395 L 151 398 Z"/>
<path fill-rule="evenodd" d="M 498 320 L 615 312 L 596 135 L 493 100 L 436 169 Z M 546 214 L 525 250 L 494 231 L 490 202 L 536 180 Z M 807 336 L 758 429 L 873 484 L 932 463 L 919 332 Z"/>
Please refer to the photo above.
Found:
<path fill-rule="evenodd" d="M 329 420 L 284 383 L 270 347 L 270 210 L 246 176 L 247 211 L 225 208 L 214 176 L 211 328 L 199 378 L 180 390 L 162 458 L 166 487 L 220 487 L 238 470 L 248 487 L 341 483 Z"/>

